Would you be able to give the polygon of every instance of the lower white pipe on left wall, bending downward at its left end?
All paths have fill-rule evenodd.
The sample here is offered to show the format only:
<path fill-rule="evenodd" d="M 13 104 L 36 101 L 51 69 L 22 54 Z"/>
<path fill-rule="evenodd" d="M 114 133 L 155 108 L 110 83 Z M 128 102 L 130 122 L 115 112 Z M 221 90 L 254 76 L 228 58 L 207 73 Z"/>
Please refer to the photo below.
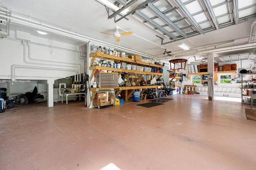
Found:
<path fill-rule="evenodd" d="M 75 69 L 66 69 L 66 68 L 52 68 L 52 67 L 39 67 L 39 66 L 24 66 L 24 65 L 16 65 L 13 64 L 11 66 L 11 81 L 15 82 L 15 68 L 31 68 L 31 69 L 40 69 L 40 70 L 59 70 L 59 71 L 73 71 L 75 74 L 78 72 L 78 70 Z"/>

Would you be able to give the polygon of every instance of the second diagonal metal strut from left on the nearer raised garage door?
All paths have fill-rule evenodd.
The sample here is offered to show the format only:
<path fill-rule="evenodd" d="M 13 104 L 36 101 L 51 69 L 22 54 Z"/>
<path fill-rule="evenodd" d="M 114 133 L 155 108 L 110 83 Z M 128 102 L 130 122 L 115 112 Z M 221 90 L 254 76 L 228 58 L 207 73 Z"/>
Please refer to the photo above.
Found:
<path fill-rule="evenodd" d="M 164 20 L 166 23 L 168 23 L 173 29 L 175 29 L 180 35 L 182 35 L 184 38 L 187 38 L 188 36 L 186 33 L 184 33 L 176 24 L 174 24 L 168 17 L 166 17 L 162 12 L 160 12 L 154 5 L 151 3 L 148 3 L 147 8 L 149 8 L 152 12 L 154 12 L 158 17 L 160 17 L 162 20 Z"/>

